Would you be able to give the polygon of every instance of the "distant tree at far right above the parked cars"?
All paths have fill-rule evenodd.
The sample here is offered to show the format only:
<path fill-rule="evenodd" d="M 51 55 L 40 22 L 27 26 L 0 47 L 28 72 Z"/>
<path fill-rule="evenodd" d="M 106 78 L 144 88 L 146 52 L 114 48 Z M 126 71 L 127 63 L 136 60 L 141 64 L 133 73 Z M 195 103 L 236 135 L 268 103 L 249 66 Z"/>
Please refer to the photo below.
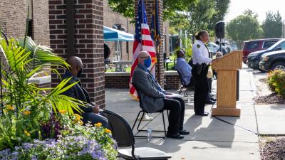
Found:
<path fill-rule="evenodd" d="M 266 19 L 262 23 L 264 38 L 280 38 L 282 35 L 282 17 L 279 11 L 276 14 L 266 12 Z"/>

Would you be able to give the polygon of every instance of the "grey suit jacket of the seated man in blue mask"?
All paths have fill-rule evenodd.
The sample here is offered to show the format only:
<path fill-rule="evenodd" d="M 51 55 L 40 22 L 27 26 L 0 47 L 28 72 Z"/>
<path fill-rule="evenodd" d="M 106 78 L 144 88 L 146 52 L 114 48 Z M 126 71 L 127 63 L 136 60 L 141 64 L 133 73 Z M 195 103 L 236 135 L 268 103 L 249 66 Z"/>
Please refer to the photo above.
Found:
<path fill-rule="evenodd" d="M 162 110 L 164 106 L 165 95 L 157 88 L 157 82 L 152 79 L 150 73 L 138 64 L 135 68 L 132 83 L 140 97 L 140 107 L 149 112 Z"/>

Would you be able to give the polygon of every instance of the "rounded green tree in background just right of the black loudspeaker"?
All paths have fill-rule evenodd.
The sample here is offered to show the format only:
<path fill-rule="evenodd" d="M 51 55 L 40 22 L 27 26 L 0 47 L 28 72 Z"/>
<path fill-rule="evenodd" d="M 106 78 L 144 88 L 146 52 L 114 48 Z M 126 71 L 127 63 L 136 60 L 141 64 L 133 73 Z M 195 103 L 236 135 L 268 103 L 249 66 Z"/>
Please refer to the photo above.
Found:
<path fill-rule="evenodd" d="M 261 26 L 257 20 L 258 15 L 253 11 L 244 11 L 244 14 L 237 16 L 227 23 L 228 36 L 240 46 L 243 41 L 260 38 L 262 35 Z"/>

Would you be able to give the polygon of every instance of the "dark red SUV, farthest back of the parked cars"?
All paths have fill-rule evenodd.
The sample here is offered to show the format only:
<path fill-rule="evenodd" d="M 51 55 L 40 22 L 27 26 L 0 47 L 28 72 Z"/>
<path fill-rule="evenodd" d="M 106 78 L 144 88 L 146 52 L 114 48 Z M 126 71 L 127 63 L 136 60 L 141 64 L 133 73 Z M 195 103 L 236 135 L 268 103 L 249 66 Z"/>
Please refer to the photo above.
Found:
<path fill-rule="evenodd" d="M 244 41 L 243 48 L 242 48 L 242 61 L 247 63 L 247 55 L 249 53 L 264 50 L 269 48 L 270 46 L 274 45 L 277 41 L 281 40 L 281 38 L 269 38 L 269 39 L 257 39 L 257 40 L 250 40 Z"/>

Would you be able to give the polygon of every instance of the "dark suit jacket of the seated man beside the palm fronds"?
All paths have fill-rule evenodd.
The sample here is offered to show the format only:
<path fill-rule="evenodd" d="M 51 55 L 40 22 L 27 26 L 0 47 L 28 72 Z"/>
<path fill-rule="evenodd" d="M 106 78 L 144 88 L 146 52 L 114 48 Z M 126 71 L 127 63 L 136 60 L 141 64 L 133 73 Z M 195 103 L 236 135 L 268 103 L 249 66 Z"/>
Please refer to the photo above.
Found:
<path fill-rule="evenodd" d="M 90 105 L 87 105 L 86 107 L 80 106 L 81 110 L 83 110 L 83 112 L 92 112 L 92 105 L 90 102 L 88 92 L 81 86 L 80 80 L 78 80 L 78 78 L 76 78 L 76 76 L 73 76 L 68 71 L 66 71 L 66 73 L 64 73 L 64 75 L 62 77 L 63 77 L 63 79 L 67 79 L 67 78 L 72 77 L 71 80 L 69 80 L 66 85 L 71 85 L 74 82 L 78 82 L 78 83 L 76 83 L 76 85 L 73 85 L 71 88 L 66 90 L 66 92 L 63 92 L 63 95 L 73 97 L 73 98 L 75 98 L 77 100 L 81 100 L 83 102 L 87 102 Z M 76 112 L 76 111 L 74 111 L 74 112 Z"/>

